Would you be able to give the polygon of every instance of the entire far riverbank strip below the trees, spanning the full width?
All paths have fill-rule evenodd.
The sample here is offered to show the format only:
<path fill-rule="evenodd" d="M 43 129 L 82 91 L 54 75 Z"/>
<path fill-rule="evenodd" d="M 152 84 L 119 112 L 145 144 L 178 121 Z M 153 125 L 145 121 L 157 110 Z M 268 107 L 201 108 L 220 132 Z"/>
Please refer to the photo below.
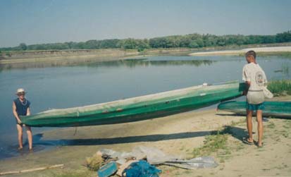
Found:
<path fill-rule="evenodd" d="M 202 48 L 159 48 L 145 49 L 79 49 L 79 50 L 39 50 L 39 51 L 2 51 L 0 53 L 0 66 L 17 67 L 25 64 L 39 63 L 39 66 L 65 66 L 78 63 L 88 63 L 96 61 L 113 61 L 128 58 L 139 58 L 146 56 L 161 55 L 225 55 L 242 54 L 247 49 L 255 49 L 264 52 L 284 52 L 290 51 L 291 43 L 275 44 L 249 44 L 249 45 L 230 45 L 223 47 L 202 47 Z M 286 48 L 287 47 L 287 48 Z M 247 49 L 246 49 L 247 48 Z"/>

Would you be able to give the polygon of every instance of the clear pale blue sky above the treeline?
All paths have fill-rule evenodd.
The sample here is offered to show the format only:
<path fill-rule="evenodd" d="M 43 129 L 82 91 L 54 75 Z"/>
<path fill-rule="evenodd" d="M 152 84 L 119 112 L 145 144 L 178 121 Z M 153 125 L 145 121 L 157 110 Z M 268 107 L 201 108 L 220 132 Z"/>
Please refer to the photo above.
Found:
<path fill-rule="evenodd" d="M 0 47 L 291 30 L 287 0 L 0 0 Z"/>

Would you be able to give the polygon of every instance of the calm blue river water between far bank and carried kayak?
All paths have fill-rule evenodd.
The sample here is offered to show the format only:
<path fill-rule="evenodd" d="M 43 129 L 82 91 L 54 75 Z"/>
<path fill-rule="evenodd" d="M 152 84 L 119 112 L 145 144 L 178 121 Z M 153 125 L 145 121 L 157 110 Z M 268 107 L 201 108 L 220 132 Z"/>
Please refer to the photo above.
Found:
<path fill-rule="evenodd" d="M 245 63 L 242 56 L 151 56 L 79 66 L 35 68 L 32 65 L 10 69 L 1 69 L 0 66 L 0 159 L 17 154 L 17 130 L 11 106 L 18 87 L 27 90 L 26 97 L 32 103 L 33 114 L 52 108 L 110 102 L 202 83 L 241 80 Z M 290 79 L 291 59 L 264 56 L 259 57 L 258 63 L 268 80 Z M 35 135 L 50 129 L 32 128 L 32 131 Z M 35 142 L 35 149 L 44 147 Z"/>

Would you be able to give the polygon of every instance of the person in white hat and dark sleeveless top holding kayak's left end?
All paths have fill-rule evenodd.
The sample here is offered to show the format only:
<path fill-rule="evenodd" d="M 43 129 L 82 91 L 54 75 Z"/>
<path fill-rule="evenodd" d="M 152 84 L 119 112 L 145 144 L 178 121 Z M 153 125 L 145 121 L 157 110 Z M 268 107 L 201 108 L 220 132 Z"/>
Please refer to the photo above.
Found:
<path fill-rule="evenodd" d="M 16 118 L 16 128 L 18 130 L 18 149 L 23 149 L 23 127 L 26 128 L 28 145 L 30 151 L 32 150 L 32 131 L 30 126 L 25 126 L 21 123 L 20 116 L 30 116 L 30 102 L 25 99 L 25 90 L 20 88 L 17 90 L 17 99 L 14 99 L 12 104 L 13 115 Z"/>

